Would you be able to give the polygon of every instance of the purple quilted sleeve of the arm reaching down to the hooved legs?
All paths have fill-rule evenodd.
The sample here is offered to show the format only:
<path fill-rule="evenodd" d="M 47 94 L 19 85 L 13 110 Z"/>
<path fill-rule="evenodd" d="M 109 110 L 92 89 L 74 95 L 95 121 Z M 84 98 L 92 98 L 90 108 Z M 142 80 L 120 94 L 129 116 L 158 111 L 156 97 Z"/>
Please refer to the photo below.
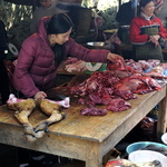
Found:
<path fill-rule="evenodd" d="M 33 42 L 27 42 L 27 40 L 23 42 L 12 78 L 16 89 L 21 91 L 27 98 L 33 97 L 39 91 L 29 73 L 29 68 L 35 59 L 35 46 Z"/>

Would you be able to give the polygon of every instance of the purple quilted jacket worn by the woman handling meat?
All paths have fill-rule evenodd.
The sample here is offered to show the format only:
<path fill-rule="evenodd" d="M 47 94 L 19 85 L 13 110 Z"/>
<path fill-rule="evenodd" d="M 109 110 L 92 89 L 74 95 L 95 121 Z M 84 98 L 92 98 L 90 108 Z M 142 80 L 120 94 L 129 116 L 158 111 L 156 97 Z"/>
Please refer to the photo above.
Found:
<path fill-rule="evenodd" d="M 50 17 L 41 19 L 38 33 L 33 33 L 23 41 L 18 57 L 12 84 L 26 97 L 33 97 L 39 90 L 51 88 L 57 75 L 58 66 L 47 39 L 45 27 Z M 65 55 L 77 57 L 85 61 L 106 62 L 108 52 L 109 50 L 105 49 L 84 48 L 71 38 L 66 42 Z"/>

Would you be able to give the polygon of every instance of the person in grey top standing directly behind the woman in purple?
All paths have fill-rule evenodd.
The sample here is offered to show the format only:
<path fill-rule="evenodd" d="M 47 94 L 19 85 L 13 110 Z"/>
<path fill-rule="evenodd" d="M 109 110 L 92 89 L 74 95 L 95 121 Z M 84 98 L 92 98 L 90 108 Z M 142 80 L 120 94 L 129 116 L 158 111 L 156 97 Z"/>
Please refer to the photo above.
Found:
<path fill-rule="evenodd" d="M 32 21 L 30 24 L 30 33 L 37 32 L 38 22 L 42 17 L 53 16 L 55 13 L 65 12 L 56 7 L 56 1 L 52 3 L 51 0 L 40 0 L 41 7 L 35 10 Z"/>

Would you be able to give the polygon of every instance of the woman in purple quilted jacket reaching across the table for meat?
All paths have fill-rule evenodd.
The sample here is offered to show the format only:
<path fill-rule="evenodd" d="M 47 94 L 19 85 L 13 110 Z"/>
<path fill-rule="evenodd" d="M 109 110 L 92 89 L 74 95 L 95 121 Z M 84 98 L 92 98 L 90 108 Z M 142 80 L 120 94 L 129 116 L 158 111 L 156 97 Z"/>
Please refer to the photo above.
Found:
<path fill-rule="evenodd" d="M 70 38 L 73 23 L 66 13 L 45 17 L 38 33 L 22 43 L 12 82 L 27 98 L 46 98 L 45 90 L 53 85 L 59 65 L 67 56 L 88 62 L 107 62 L 122 59 L 109 50 L 87 49 Z"/>

